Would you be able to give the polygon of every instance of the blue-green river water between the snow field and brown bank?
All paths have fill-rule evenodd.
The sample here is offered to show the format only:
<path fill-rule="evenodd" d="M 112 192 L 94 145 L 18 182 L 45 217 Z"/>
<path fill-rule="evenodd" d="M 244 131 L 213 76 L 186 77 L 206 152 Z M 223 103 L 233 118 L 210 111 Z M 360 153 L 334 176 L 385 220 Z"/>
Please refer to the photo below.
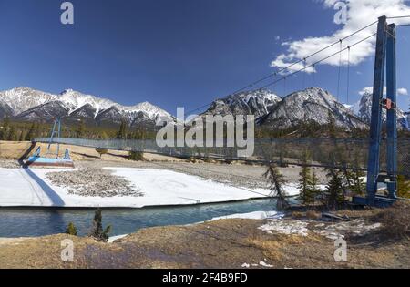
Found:
<path fill-rule="evenodd" d="M 272 211 L 275 201 L 246 200 L 216 204 L 143 209 L 103 209 L 103 225 L 112 226 L 110 236 L 127 234 L 141 228 L 183 225 L 215 217 L 252 211 Z M 0 237 L 28 237 L 62 233 L 73 222 L 78 235 L 87 235 L 94 217 L 93 209 L 0 208 Z"/>

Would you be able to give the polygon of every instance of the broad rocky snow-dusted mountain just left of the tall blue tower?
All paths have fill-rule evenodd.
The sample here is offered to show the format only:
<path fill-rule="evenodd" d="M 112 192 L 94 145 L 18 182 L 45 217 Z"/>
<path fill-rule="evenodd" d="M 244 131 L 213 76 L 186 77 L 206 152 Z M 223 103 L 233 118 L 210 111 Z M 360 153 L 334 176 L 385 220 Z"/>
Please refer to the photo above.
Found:
<path fill-rule="evenodd" d="M 350 109 L 320 87 L 310 87 L 283 97 L 259 123 L 265 128 L 279 129 L 291 128 L 303 121 L 324 125 L 329 122 L 329 114 L 340 128 L 368 128 L 364 120 L 354 116 Z"/>

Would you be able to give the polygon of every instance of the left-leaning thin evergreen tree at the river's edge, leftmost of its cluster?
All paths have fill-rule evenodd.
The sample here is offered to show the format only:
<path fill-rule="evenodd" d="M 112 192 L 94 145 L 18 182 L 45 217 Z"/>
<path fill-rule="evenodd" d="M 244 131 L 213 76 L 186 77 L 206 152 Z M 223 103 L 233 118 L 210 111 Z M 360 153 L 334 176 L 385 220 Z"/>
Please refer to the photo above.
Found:
<path fill-rule="evenodd" d="M 289 203 L 286 200 L 286 192 L 282 186 L 286 183 L 282 173 L 274 166 L 270 165 L 264 174 L 270 183 L 271 196 L 276 197 L 276 210 L 283 211 L 289 208 Z"/>

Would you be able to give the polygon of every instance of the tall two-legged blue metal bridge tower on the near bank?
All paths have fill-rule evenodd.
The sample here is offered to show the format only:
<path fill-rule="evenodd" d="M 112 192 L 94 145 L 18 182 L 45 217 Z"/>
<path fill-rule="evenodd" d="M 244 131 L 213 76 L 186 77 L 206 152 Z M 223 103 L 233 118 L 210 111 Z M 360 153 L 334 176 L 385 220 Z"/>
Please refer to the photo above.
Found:
<path fill-rule="evenodd" d="M 381 200 L 377 193 L 377 183 L 385 182 L 389 198 L 396 199 L 397 174 L 397 127 L 395 113 L 396 78 L 395 78 L 395 25 L 387 26 L 387 18 L 379 18 L 377 42 L 374 61 L 374 90 L 372 102 L 372 119 L 370 126 L 370 144 L 367 163 L 367 198 L 368 205 L 377 206 Z M 384 72 L 386 72 L 387 100 L 393 105 L 387 109 L 387 175 L 380 174 L 380 144 L 382 141 L 382 112 L 384 105 Z M 358 199 L 355 199 L 358 200 Z"/>

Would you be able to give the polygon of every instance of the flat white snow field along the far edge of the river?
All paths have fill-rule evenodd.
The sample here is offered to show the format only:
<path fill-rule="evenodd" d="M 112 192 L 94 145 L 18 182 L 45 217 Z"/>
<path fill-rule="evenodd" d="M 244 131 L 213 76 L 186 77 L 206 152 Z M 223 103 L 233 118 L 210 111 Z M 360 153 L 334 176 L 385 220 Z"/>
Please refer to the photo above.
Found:
<path fill-rule="evenodd" d="M 270 193 L 267 189 L 242 189 L 170 170 L 107 169 L 131 181 L 144 196 L 82 197 L 68 194 L 67 187 L 57 187 L 46 177 L 47 172 L 72 169 L 0 169 L 0 206 L 140 208 L 248 200 Z M 288 195 L 298 192 L 292 187 L 286 187 L 286 191 Z"/>

